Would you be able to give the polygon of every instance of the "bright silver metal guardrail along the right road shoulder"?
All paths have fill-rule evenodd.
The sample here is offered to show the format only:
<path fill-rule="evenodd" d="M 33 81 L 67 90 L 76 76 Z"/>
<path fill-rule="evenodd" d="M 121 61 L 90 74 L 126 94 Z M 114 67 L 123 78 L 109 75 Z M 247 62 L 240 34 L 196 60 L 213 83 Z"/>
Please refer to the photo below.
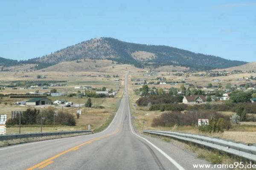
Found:
<path fill-rule="evenodd" d="M 178 133 L 160 130 L 143 130 L 143 132 L 162 136 L 169 136 L 172 138 L 189 141 L 196 144 L 201 144 L 236 156 L 241 156 L 252 161 L 256 161 L 256 146 L 248 146 L 246 144 L 235 143 L 225 141 L 223 139 L 216 139 L 189 133 Z"/>

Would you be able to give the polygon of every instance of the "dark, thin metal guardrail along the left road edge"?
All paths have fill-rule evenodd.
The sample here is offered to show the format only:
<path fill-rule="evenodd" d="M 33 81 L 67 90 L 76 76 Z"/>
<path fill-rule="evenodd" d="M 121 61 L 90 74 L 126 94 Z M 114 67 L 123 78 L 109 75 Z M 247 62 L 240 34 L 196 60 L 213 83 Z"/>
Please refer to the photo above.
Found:
<path fill-rule="evenodd" d="M 10 139 L 22 139 L 42 136 L 56 136 L 56 135 L 67 135 L 74 133 L 91 133 L 91 130 L 80 130 L 80 131 L 67 131 L 67 132 L 49 132 L 49 133 L 24 133 L 24 134 L 13 134 L 13 135 L 1 135 L 0 141 Z"/>

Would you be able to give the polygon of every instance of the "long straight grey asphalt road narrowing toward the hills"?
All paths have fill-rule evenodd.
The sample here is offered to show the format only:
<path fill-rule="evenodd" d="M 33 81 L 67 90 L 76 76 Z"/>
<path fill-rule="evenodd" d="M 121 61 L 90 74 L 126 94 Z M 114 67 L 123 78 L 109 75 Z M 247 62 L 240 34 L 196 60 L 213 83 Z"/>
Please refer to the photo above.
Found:
<path fill-rule="evenodd" d="M 192 170 L 209 164 L 182 147 L 136 133 L 131 124 L 127 74 L 120 107 L 100 133 L 0 148 L 1 170 Z"/>

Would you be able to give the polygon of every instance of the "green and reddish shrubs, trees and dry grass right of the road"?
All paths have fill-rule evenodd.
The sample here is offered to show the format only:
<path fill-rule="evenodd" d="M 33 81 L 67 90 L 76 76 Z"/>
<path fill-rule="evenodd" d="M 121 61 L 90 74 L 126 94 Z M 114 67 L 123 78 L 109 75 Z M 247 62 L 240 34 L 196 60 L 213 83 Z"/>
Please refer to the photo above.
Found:
<path fill-rule="evenodd" d="M 154 79 L 164 80 L 163 77 Z M 134 88 L 130 91 L 131 102 L 134 103 L 131 105 L 133 123 L 137 130 L 170 130 L 256 143 L 256 104 L 250 101 L 256 95 L 255 90 L 230 91 L 228 101 L 212 102 L 209 99 L 199 105 L 183 104 L 184 95 L 208 94 L 202 88 L 195 88 L 188 83 L 179 85 L 180 88 L 162 88 L 166 85 L 155 86 L 149 83 L 149 79 L 144 79 L 144 82 L 141 78 L 138 80 L 142 86 L 136 88 L 137 85 L 132 81 Z M 185 84 L 190 88 L 185 88 Z M 210 95 L 222 96 L 223 86 L 216 88 L 220 89 L 213 89 Z M 198 126 L 198 119 L 208 119 L 209 123 Z"/>

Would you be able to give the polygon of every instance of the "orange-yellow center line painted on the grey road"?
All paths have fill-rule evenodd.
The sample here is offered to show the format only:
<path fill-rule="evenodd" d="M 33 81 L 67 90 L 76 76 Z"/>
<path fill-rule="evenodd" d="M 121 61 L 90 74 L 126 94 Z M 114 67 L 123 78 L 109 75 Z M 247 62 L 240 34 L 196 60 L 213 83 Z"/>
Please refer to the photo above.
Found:
<path fill-rule="evenodd" d="M 39 168 L 44 168 L 44 167 L 46 167 L 48 164 L 53 163 L 53 161 L 52 161 L 53 159 L 58 158 L 58 157 L 60 157 L 61 155 L 64 155 L 65 153 L 68 153 L 68 152 L 70 152 L 70 151 L 72 151 L 72 150 L 77 150 L 77 149 L 79 149 L 79 147 L 81 147 L 81 146 L 83 146 L 83 145 L 85 145 L 85 144 L 90 144 L 90 143 L 92 143 L 93 141 L 96 141 L 96 140 L 99 140 L 99 139 L 103 139 L 103 138 L 106 138 L 106 137 L 108 137 L 108 136 L 112 136 L 112 135 L 118 133 L 119 130 L 120 130 L 120 129 L 118 128 L 115 132 L 113 132 L 113 133 L 111 133 L 111 134 L 108 134 L 108 135 L 106 135 L 106 136 L 102 136 L 102 137 L 99 137 L 99 138 L 94 138 L 94 139 L 92 139 L 92 140 L 90 140 L 90 141 L 87 141 L 87 142 L 84 142 L 84 143 L 82 143 L 82 144 L 79 144 L 79 145 L 77 145 L 77 146 L 75 146 L 75 147 L 72 147 L 72 148 L 70 148 L 70 149 L 68 149 L 68 150 L 64 150 L 63 152 L 58 153 L 57 155 L 52 156 L 51 158 L 46 159 L 46 160 L 40 162 L 39 164 L 36 164 L 36 165 L 34 165 L 34 166 L 32 166 L 32 167 L 29 167 L 27 170 L 34 170 L 35 168 L 38 168 L 38 167 L 39 167 Z"/>

